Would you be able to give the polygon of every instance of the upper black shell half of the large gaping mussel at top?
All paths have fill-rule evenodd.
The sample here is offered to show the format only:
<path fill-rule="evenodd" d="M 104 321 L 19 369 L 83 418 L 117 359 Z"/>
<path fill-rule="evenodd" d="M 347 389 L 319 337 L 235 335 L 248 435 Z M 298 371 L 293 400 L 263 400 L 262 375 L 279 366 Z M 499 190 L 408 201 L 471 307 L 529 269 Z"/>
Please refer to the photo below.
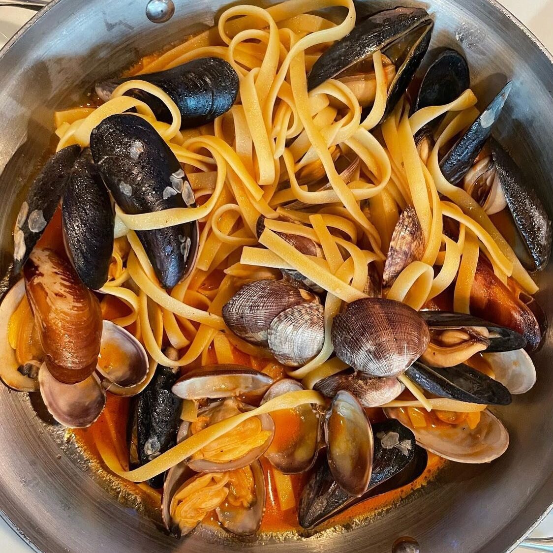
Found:
<path fill-rule="evenodd" d="M 340 74 L 377 50 L 383 50 L 401 35 L 429 18 L 421 8 L 395 8 L 375 13 L 358 23 L 351 33 L 335 42 L 315 62 L 307 86 L 309 90 Z"/>

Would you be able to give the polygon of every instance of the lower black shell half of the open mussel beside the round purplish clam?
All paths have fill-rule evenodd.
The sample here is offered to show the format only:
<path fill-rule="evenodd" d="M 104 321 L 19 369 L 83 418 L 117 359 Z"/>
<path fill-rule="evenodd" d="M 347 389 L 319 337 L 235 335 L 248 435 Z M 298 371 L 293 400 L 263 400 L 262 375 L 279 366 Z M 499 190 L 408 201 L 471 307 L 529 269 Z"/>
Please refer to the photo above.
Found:
<path fill-rule="evenodd" d="M 465 364 L 428 367 L 416 361 L 405 374 L 439 398 L 481 405 L 509 405 L 512 401 L 509 390 L 502 383 Z"/>

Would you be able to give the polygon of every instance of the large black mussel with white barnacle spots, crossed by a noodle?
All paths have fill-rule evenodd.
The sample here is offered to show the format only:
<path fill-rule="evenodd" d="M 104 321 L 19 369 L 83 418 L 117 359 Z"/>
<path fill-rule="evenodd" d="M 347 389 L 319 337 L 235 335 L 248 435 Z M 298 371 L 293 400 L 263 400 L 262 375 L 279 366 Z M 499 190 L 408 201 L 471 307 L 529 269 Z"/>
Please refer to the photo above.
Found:
<path fill-rule="evenodd" d="M 189 204 L 189 183 L 168 145 L 144 119 L 123 113 L 104 119 L 90 137 L 98 170 L 121 209 L 131 215 Z M 173 288 L 192 269 L 198 249 L 197 222 L 139 231 L 160 284 Z"/>

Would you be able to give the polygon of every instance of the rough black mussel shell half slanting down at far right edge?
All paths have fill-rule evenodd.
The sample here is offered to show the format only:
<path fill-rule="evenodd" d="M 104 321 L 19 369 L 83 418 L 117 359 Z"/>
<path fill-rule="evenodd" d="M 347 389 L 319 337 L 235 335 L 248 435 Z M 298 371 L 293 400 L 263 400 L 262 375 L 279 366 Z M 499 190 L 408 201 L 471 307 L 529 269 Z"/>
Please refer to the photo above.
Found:
<path fill-rule="evenodd" d="M 533 270 L 547 265 L 551 255 L 551 221 L 534 187 L 529 185 L 518 165 L 492 138 L 492 156 L 505 200 L 513 219 L 534 259 Z"/>

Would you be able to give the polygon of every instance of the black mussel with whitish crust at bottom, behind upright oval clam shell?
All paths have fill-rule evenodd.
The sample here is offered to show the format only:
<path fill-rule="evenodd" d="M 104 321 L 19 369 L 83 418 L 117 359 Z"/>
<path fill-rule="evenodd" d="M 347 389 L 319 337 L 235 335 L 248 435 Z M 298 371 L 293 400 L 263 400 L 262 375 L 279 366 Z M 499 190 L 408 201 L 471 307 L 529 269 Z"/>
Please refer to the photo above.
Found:
<path fill-rule="evenodd" d="M 391 479 L 397 477 L 395 482 L 398 484 L 397 487 L 401 487 L 424 472 L 426 467 L 424 455 L 419 458 L 416 468 L 411 465 L 418 449 L 415 446 L 415 436 L 407 427 L 397 420 L 389 419 L 374 424 L 373 433 L 373 470 L 367 491 L 361 497 L 354 497 L 345 492 L 338 486 L 332 477 L 328 463 L 321 456 L 310 481 L 301 494 L 298 520 L 302 528 L 314 528 L 348 507 L 375 494 L 384 493 L 379 490 L 383 490 L 384 484 Z M 405 469 L 408 469 L 405 477 L 399 478 Z M 409 481 L 409 477 L 413 479 Z"/>

